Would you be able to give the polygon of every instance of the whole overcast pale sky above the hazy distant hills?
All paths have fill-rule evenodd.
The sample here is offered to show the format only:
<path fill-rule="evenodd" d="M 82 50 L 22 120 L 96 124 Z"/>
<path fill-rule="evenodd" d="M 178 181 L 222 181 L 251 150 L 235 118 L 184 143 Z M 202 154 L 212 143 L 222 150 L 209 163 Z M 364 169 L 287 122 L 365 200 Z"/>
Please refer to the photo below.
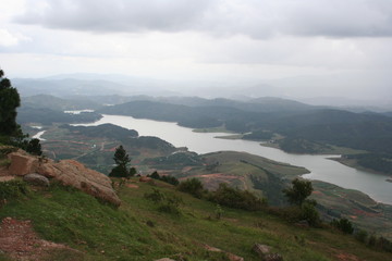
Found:
<path fill-rule="evenodd" d="M 0 4 L 0 66 L 10 78 L 125 74 L 258 94 L 269 85 L 286 97 L 392 99 L 391 0 Z"/>

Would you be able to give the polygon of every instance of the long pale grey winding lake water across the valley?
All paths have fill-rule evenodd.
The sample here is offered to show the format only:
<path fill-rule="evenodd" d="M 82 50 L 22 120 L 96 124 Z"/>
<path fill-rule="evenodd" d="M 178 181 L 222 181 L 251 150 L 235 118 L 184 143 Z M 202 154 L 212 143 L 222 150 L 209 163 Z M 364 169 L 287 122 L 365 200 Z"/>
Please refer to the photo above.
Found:
<path fill-rule="evenodd" d="M 77 125 L 95 126 L 105 123 L 136 129 L 140 136 L 156 136 L 175 147 L 187 147 L 191 151 L 197 153 L 221 150 L 244 151 L 274 161 L 304 166 L 310 171 L 309 174 L 304 175 L 306 178 L 357 189 L 369 195 L 376 201 L 392 204 L 392 183 L 385 181 L 389 176 L 358 171 L 327 159 L 339 156 L 292 154 L 279 149 L 260 146 L 257 141 L 216 138 L 217 136 L 228 135 L 223 133 L 194 133 L 191 128 L 181 127 L 176 123 L 134 119 L 132 116 L 103 115 L 102 119 L 95 123 Z"/>

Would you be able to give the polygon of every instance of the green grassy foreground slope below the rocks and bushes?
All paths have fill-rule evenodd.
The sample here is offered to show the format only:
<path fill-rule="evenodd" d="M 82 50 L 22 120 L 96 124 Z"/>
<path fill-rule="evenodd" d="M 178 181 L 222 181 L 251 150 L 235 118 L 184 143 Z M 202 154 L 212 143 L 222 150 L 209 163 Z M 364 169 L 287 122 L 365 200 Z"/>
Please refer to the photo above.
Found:
<path fill-rule="evenodd" d="M 10 201 L 0 217 L 32 220 L 44 238 L 65 243 L 83 252 L 52 253 L 57 254 L 53 256 L 56 260 L 155 260 L 163 257 L 183 257 L 189 261 L 226 260 L 220 253 L 207 252 L 203 244 L 245 260 L 258 260 L 250 250 L 255 243 L 272 246 L 286 261 L 339 260 L 339 254 L 375 261 L 391 258 L 390 253 L 373 251 L 351 236 L 320 228 L 299 228 L 264 212 L 223 209 L 222 220 L 210 220 L 216 209 L 213 203 L 158 183 L 162 192 L 176 195 L 184 201 L 180 216 L 161 213 L 155 203 L 144 198 L 145 192 L 151 191 L 151 185 L 137 185 L 138 188 L 120 189 L 123 204 L 118 210 L 74 189 L 52 186 L 49 190 L 32 192 L 26 199 Z"/>

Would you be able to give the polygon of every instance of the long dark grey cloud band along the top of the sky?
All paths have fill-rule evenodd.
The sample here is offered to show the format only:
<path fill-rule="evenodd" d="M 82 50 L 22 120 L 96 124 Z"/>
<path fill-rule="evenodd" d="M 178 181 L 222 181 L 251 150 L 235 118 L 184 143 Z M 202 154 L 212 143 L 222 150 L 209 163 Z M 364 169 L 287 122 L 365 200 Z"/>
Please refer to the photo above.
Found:
<path fill-rule="evenodd" d="M 253 38 L 392 36 L 391 0 L 41 1 L 41 8 L 30 1 L 16 22 L 96 33 L 197 30 Z"/>

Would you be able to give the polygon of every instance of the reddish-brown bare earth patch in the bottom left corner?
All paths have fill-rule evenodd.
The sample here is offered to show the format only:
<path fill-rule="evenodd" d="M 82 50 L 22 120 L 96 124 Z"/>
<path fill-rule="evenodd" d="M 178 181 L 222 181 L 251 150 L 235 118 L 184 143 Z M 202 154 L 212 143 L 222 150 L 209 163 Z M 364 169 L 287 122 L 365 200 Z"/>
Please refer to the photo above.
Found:
<path fill-rule="evenodd" d="M 50 260 L 49 253 L 57 250 L 81 253 L 65 245 L 40 239 L 33 231 L 30 221 L 5 217 L 0 224 L 0 250 L 14 260 Z"/>

